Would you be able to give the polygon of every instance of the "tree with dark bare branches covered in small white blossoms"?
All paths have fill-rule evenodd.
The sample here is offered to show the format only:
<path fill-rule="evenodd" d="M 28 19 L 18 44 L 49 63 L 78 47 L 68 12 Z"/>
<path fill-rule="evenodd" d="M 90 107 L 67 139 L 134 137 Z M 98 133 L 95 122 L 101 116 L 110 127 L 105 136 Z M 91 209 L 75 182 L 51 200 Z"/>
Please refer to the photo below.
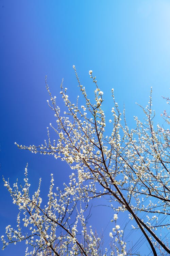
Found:
<path fill-rule="evenodd" d="M 108 136 L 105 132 L 107 120 L 102 110 L 103 92 L 97 85 L 96 77 L 92 76 L 90 70 L 89 75 L 95 84 L 95 102 L 92 103 L 87 97 L 85 87 L 79 81 L 74 66 L 73 68 L 85 104 L 79 108 L 78 98 L 76 104 L 71 103 L 67 88 L 63 88 L 62 82 L 60 93 L 67 111 L 61 115 L 56 97 L 52 96 L 46 80 L 51 100 L 48 104 L 56 117 L 57 127 L 50 124 L 56 132 L 56 140 L 51 142 L 47 128 L 48 142 L 45 140 L 44 145 L 22 146 L 16 143 L 19 148 L 32 153 L 53 155 L 56 159 L 66 161 L 74 171 L 70 176 L 69 186 L 65 185 L 64 191 L 58 190 L 58 194 L 53 193 L 52 178 L 48 206 L 42 209 L 41 199 L 38 199 L 39 188 L 32 199 L 29 196 L 27 172 L 22 191 L 19 191 L 16 183 L 13 192 L 9 183 L 4 180 L 19 209 L 30 215 L 28 217 L 24 213 L 24 226 L 27 227 L 27 224 L 31 223 L 36 226 L 33 234 L 28 233 L 22 237 L 18 217 L 18 231 L 7 227 L 8 240 L 29 240 L 34 246 L 34 255 L 52 255 L 52 252 L 55 255 L 109 255 L 102 251 L 102 239 L 97 237 L 97 233 L 91 228 L 88 231 L 84 217 L 89 199 L 104 196 L 106 200 L 114 202 L 111 207 L 115 228 L 110 232 L 114 246 L 110 255 L 132 255 L 132 250 L 127 251 L 125 242 L 121 240 L 123 230 L 116 223 L 119 212 L 128 212 L 132 228 L 139 229 L 145 236 L 154 256 L 168 255 L 168 241 L 162 238 L 162 232 L 169 230 L 170 225 L 167 219 L 167 215 L 170 215 L 169 130 L 160 125 L 154 127 L 152 88 L 147 107 L 140 106 L 145 114 L 145 122 L 142 123 L 138 117 L 134 117 L 136 127 L 132 130 L 129 130 L 126 124 L 125 110 L 123 121 L 121 120 L 122 114 L 112 89 L 113 119 L 108 123 L 113 128 Z M 168 125 L 169 116 L 166 112 L 164 117 Z M 75 220 L 72 222 L 70 218 L 73 216 Z M 79 239 L 78 222 L 81 223 L 84 242 Z M 62 229 L 61 232 L 58 227 Z M 35 240 L 35 236 L 39 240 Z M 6 246 L 4 238 L 2 240 Z"/>

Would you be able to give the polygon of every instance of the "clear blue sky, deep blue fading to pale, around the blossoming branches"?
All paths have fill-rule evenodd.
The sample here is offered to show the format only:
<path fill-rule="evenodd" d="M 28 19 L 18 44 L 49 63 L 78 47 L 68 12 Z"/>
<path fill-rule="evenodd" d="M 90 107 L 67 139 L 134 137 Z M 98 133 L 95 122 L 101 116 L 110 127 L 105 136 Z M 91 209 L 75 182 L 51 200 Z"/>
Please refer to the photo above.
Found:
<path fill-rule="evenodd" d="M 14 142 L 40 144 L 47 138 L 46 127 L 54 118 L 47 106 L 45 75 L 53 95 L 59 95 L 64 78 L 75 100 L 79 91 L 72 65 L 89 96 L 93 84 L 88 71 L 93 70 L 104 91 L 106 115 L 114 88 L 120 109 L 125 104 L 131 128 L 133 116 L 142 114 L 135 102 L 145 106 L 152 86 L 155 122 L 163 123 L 160 113 L 167 104 L 161 96 L 168 97 L 170 88 L 169 1 L 0 0 L 0 24 L 1 177 L 10 177 L 12 183 L 17 177 L 23 179 L 29 162 L 33 190 L 42 177 L 46 194 L 51 172 L 57 186 L 65 181 L 70 172 L 66 163 L 20 151 Z M 60 96 L 57 99 L 62 104 Z M 5 226 L 15 224 L 17 211 L 2 179 L 0 195 L 1 235 Z M 104 214 L 109 220 L 109 213 Z M 18 255 L 17 250 L 24 252 L 24 245 L 9 246 L 1 254 Z"/>

